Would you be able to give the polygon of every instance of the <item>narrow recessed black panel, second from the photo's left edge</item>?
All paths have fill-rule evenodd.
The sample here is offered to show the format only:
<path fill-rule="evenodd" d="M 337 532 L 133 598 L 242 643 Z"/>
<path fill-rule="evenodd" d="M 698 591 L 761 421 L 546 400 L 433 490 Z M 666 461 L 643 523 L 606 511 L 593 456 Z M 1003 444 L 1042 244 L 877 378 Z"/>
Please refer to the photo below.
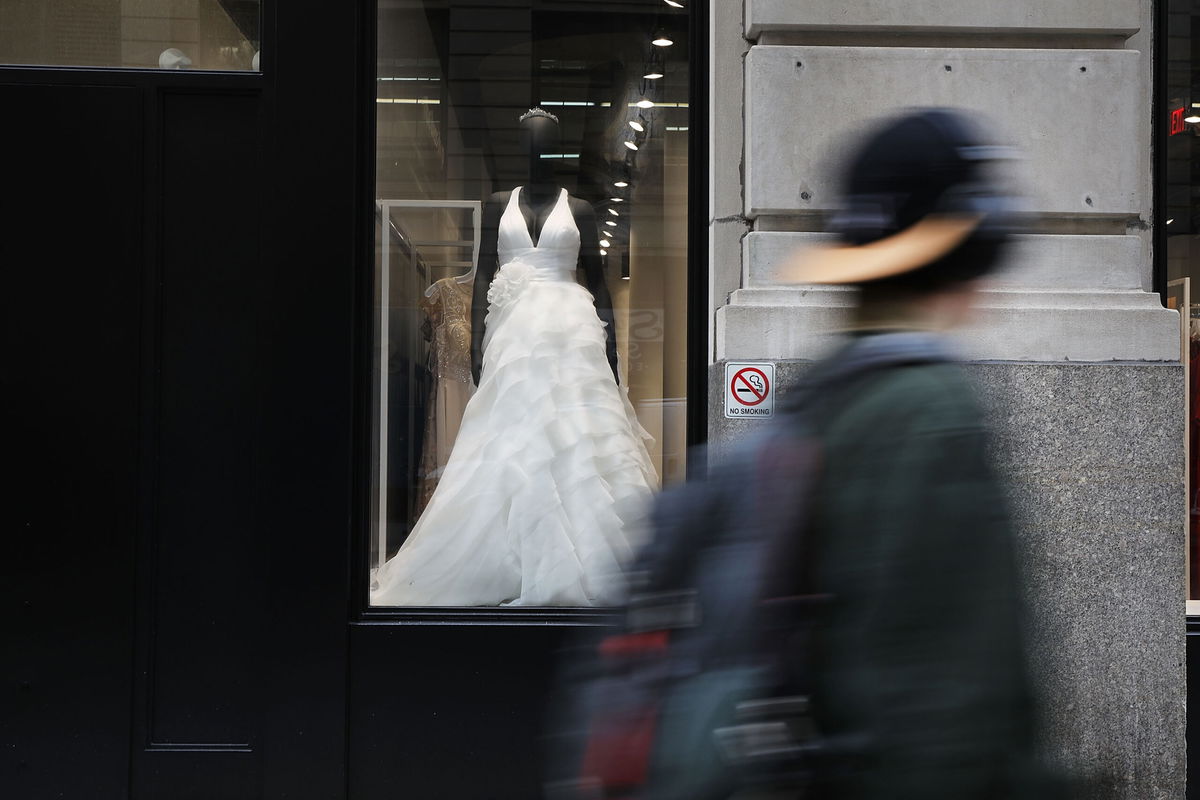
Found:
<path fill-rule="evenodd" d="M 262 738 L 262 101 L 152 91 L 134 796 L 241 798 Z"/>

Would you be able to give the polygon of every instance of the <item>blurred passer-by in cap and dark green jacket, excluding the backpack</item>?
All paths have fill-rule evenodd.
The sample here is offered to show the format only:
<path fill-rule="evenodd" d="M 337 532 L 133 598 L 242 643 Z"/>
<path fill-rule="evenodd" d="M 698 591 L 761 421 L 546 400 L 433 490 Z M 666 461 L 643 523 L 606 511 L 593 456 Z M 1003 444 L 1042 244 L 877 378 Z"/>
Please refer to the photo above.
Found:
<path fill-rule="evenodd" d="M 854 285 L 824 375 L 908 353 L 811 398 L 821 465 L 809 579 L 828 600 L 812 642 L 821 734 L 858 741 L 812 796 L 1030 799 L 1058 789 L 1033 756 L 1036 705 L 1016 541 L 988 431 L 946 331 L 967 320 L 1015 215 L 989 179 L 1002 149 L 949 109 L 910 113 L 851 160 L 838 246 L 798 283 Z"/>

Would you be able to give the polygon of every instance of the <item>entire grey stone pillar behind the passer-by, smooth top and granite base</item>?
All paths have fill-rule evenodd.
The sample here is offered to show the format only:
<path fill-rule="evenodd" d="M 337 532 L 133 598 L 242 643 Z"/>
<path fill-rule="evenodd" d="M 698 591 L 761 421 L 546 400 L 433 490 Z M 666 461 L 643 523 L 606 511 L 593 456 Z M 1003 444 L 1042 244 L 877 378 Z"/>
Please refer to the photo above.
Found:
<path fill-rule="evenodd" d="M 755 425 L 724 419 L 724 361 L 786 379 L 844 320 L 846 290 L 779 266 L 826 237 L 847 142 L 906 106 L 979 112 L 1022 151 L 1038 218 L 960 343 L 1022 521 L 1046 747 L 1091 796 L 1182 796 L 1183 378 L 1150 291 L 1150 0 L 710 7 L 714 443 Z"/>

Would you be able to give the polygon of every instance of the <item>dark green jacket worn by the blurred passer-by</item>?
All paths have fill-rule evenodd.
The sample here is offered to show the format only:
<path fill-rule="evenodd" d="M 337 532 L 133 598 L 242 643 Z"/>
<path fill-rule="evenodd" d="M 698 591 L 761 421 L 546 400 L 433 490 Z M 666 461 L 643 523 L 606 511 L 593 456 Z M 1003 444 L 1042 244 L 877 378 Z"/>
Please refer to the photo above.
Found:
<path fill-rule="evenodd" d="M 829 795 L 1050 796 L 1031 757 L 1016 542 L 960 367 L 871 372 L 814 420 L 815 579 L 833 596 L 814 699 L 827 735 L 863 745 Z"/>

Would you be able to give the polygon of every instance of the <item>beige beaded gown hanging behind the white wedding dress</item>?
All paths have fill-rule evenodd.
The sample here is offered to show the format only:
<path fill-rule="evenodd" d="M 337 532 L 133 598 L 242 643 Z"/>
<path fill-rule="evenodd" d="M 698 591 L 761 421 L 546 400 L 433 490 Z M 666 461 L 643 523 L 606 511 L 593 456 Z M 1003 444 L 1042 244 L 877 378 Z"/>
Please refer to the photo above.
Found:
<path fill-rule="evenodd" d="M 442 278 L 421 297 L 421 311 L 428 325 L 433 391 L 421 444 L 418 515 L 433 497 L 450 461 L 467 401 L 475 393 L 475 381 L 470 378 L 470 291 L 469 282 Z"/>

